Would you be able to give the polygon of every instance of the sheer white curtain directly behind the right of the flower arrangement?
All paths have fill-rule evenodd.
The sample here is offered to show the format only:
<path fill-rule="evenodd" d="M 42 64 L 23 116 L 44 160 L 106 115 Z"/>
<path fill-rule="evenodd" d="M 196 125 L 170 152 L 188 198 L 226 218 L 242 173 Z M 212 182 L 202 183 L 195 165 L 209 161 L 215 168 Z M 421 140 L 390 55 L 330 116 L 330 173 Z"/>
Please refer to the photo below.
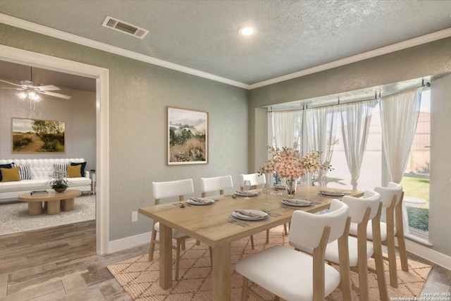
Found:
<path fill-rule="evenodd" d="M 321 164 L 329 165 L 332 159 L 333 145 L 335 144 L 335 113 L 337 106 L 323 106 L 321 108 L 308 109 L 307 119 L 307 140 L 309 152 L 321 152 Z M 328 169 L 319 170 L 318 178 L 327 176 Z"/>

